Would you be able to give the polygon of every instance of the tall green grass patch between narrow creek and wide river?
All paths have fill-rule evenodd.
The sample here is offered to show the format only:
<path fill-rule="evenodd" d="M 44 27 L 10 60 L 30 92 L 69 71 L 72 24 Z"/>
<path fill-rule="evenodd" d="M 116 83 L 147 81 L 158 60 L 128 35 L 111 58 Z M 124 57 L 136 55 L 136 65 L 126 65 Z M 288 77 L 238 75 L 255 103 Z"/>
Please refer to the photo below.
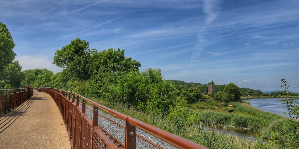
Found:
<path fill-rule="evenodd" d="M 272 125 L 274 121 L 287 119 L 286 117 L 277 114 L 259 110 L 245 103 L 230 102 L 227 104 L 236 105 L 237 108 L 222 107 L 213 111 L 201 111 L 199 113 L 199 121 L 224 127 L 262 131 Z M 233 114 L 228 113 L 228 110 L 230 109 L 234 110 Z"/>

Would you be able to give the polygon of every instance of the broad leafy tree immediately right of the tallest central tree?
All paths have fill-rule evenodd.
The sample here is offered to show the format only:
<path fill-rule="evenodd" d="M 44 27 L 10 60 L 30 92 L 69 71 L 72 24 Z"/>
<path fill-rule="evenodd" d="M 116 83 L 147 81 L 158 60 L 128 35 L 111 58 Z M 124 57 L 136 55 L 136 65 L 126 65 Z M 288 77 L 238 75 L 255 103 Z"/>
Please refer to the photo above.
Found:
<path fill-rule="evenodd" d="M 93 61 L 89 69 L 91 78 L 87 81 L 90 87 L 89 95 L 99 95 L 107 99 L 111 87 L 116 85 L 120 76 L 139 70 L 141 64 L 132 58 L 126 58 L 124 51 L 112 48 L 100 52 L 93 51 Z"/>

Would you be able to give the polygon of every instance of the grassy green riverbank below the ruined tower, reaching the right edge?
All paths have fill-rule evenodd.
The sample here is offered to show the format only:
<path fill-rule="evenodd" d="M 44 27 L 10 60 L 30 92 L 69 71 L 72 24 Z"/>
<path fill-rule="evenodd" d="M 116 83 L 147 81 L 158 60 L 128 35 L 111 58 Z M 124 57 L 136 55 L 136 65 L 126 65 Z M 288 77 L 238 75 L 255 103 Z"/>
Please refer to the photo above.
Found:
<path fill-rule="evenodd" d="M 199 122 L 204 124 L 223 128 L 248 129 L 257 132 L 258 137 L 270 139 L 270 142 L 275 140 L 275 144 L 280 148 L 298 147 L 298 121 L 254 108 L 248 102 L 226 103 L 235 105 L 236 108 L 224 107 L 223 104 L 215 100 L 206 100 L 192 103 L 189 108 L 199 111 Z M 234 110 L 234 112 L 228 113 L 228 110 Z"/>

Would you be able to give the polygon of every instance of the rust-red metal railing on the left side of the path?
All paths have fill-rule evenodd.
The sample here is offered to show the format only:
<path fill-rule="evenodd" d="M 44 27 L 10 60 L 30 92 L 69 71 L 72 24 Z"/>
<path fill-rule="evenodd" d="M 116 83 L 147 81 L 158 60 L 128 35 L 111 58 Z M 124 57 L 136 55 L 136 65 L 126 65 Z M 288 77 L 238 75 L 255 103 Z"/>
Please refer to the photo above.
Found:
<path fill-rule="evenodd" d="M 33 88 L 0 89 L 0 117 L 24 103 L 33 95 Z"/>

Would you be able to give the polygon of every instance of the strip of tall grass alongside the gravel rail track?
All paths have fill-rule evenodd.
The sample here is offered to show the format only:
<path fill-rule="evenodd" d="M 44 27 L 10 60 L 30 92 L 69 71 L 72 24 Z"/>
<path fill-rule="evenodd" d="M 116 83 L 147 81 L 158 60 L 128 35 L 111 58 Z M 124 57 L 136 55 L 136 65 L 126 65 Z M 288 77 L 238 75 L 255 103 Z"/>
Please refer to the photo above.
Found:
<path fill-rule="evenodd" d="M 91 99 L 91 98 L 90 98 Z M 96 101 L 97 99 L 92 99 Z M 201 124 L 187 124 L 180 117 L 176 117 L 173 120 L 168 120 L 166 115 L 159 113 L 145 113 L 138 111 L 129 105 L 121 103 L 109 103 L 97 100 L 102 105 L 112 108 L 128 116 L 132 116 L 150 125 L 168 131 L 177 136 L 188 139 L 197 144 L 203 145 L 207 148 L 228 148 L 228 149 L 248 149 L 257 148 L 256 142 L 250 142 L 245 139 L 239 139 L 236 136 L 225 135 L 221 132 L 216 132 L 212 129 L 205 129 Z M 275 146 L 271 146 L 275 148 Z"/>

